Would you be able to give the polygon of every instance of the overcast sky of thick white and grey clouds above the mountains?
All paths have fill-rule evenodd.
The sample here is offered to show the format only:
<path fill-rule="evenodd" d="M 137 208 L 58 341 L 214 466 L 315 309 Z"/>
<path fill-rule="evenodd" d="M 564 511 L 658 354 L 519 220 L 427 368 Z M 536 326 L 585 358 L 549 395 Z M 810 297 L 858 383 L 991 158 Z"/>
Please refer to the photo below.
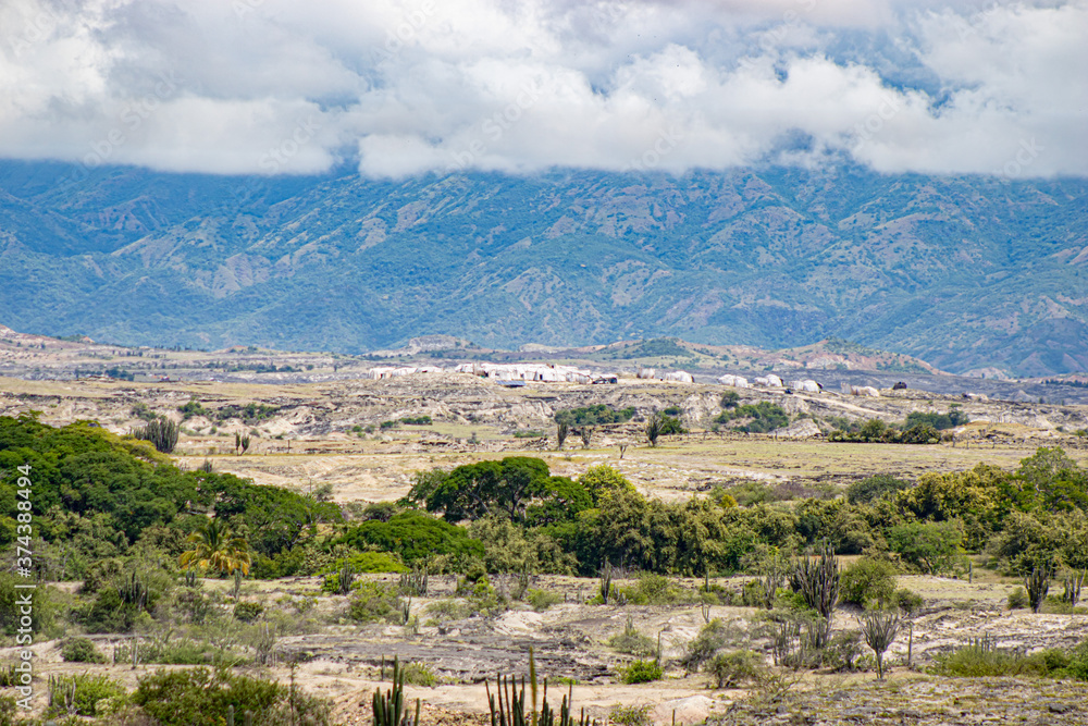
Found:
<path fill-rule="evenodd" d="M 0 0 L 0 157 L 1088 175 L 1088 0 Z"/>

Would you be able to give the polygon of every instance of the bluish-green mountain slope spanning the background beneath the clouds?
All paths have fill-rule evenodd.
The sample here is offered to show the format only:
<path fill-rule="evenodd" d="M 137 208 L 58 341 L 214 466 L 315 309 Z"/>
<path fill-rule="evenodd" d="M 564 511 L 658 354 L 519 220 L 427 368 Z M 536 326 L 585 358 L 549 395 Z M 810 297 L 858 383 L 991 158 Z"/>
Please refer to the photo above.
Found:
<path fill-rule="evenodd" d="M 373 182 L 0 163 L 0 320 L 360 353 L 836 337 L 953 372 L 1088 368 L 1088 182 L 857 169 Z"/>

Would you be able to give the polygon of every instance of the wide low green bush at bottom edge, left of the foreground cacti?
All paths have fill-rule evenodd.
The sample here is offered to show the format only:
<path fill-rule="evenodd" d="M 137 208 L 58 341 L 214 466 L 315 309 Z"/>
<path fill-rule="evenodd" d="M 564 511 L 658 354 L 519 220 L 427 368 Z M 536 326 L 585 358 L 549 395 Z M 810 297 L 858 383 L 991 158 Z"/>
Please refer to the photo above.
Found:
<path fill-rule="evenodd" d="M 236 714 L 252 711 L 257 724 L 287 723 L 288 716 L 296 724 L 331 724 L 323 699 L 228 670 L 159 670 L 140 679 L 132 700 L 158 726 L 221 726 L 228 705 Z"/>

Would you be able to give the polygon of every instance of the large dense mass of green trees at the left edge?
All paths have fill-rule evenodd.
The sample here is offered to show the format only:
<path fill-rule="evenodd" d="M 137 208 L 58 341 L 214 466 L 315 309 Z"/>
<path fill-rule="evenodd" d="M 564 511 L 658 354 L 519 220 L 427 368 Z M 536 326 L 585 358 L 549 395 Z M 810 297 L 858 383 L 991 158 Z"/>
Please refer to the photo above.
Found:
<path fill-rule="evenodd" d="M 36 558 L 55 579 L 83 578 L 91 564 L 138 543 L 181 554 L 182 540 L 205 520 L 194 509 L 246 532 L 258 556 L 290 550 L 336 505 L 230 473 L 182 471 L 145 442 L 77 422 L 52 428 L 33 416 L 0 417 L 0 544 L 16 525 L 15 467 L 30 465 L 34 517 L 46 547 Z"/>

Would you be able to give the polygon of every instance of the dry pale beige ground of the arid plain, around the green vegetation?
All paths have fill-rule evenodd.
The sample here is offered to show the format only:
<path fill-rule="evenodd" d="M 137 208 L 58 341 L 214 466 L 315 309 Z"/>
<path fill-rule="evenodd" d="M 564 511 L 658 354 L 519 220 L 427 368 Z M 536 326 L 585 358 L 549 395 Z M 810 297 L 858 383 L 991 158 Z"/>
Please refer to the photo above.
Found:
<path fill-rule="evenodd" d="M 979 463 L 1014 469 L 1040 446 L 1062 446 L 1081 465 L 1088 463 L 1086 406 L 913 387 L 883 389 L 876 397 L 743 389 L 737 391 L 741 404 L 766 401 L 793 416 L 804 415 L 777 434 L 745 434 L 715 431 L 712 426 L 727 390 L 713 383 L 633 377 L 620 377 L 610 385 L 530 382 L 507 387 L 452 372 L 387 380 L 337 377 L 309 383 L 4 378 L 0 414 L 39 411 L 42 422 L 54 426 L 95 420 L 118 434 L 128 433 L 149 415 L 166 416 L 182 427 L 173 454 L 181 467 L 210 463 L 217 471 L 261 484 L 304 493 L 321 490 L 345 505 L 349 516 L 366 504 L 404 496 L 417 471 L 511 454 L 537 456 L 553 473 L 570 477 L 608 464 L 644 495 L 666 501 L 698 497 L 715 485 L 747 481 L 794 496 L 834 495 L 851 482 L 878 473 L 914 480 L 926 472 L 962 471 Z M 199 408 L 180 410 L 194 403 Z M 263 408 L 248 416 L 219 414 L 250 404 Z M 627 423 L 595 427 L 589 444 L 572 435 L 558 450 L 555 414 L 593 404 L 633 407 L 635 415 Z M 960 406 L 970 422 L 944 432 L 940 443 L 833 443 L 826 438 L 833 421 L 877 418 L 892 423 L 911 411 L 945 413 L 951 405 Z M 680 410 L 689 432 L 650 446 L 642 421 L 672 407 Z M 383 427 L 423 416 L 431 422 Z M 237 453 L 235 434 L 251 436 L 245 454 Z M 735 605 L 701 608 L 696 590 L 702 580 L 673 578 L 680 594 L 672 604 L 595 605 L 588 604 L 598 589 L 595 578 L 537 576 L 532 587 L 555 593 L 556 604 L 537 611 L 514 602 L 502 612 L 469 614 L 458 605 L 463 598 L 455 591 L 456 578 L 433 576 L 426 596 L 411 602 L 412 613 L 420 616 L 415 631 L 345 619 L 346 598 L 322 593 L 320 577 L 247 582 L 242 600 L 294 620 L 294 631 L 286 630 L 280 639 L 282 656 L 298 662 L 295 675 L 307 689 L 335 700 L 341 723 L 370 723 L 369 693 L 380 684 L 383 660 L 394 655 L 425 664 L 438 678 L 433 687 L 409 687 L 409 697 L 425 703 L 424 723 L 482 723 L 483 681 L 499 673 L 523 673 L 530 647 L 540 672 L 553 682 L 574 684 L 576 705 L 598 718 L 610 714 L 620 718 L 614 713 L 619 706 L 648 706 L 648 717 L 660 724 L 670 723 L 673 712 L 676 722 L 684 724 L 706 718 L 722 724 L 1088 723 L 1084 684 L 1033 678 L 961 682 L 926 673 L 935 654 L 984 636 L 1000 648 L 1027 653 L 1071 648 L 1088 637 L 1088 615 L 1009 611 L 1007 595 L 1019 581 L 986 568 L 985 557 L 976 559 L 972 582 L 900 576 L 900 587 L 920 595 L 923 605 L 911 616 L 910 630 L 904 628 L 890 649 L 891 675 L 880 684 L 870 670 L 817 672 L 777 687 L 709 689 L 705 674 L 688 673 L 680 663 L 688 643 L 708 619 L 728 624 L 737 648 L 769 657 L 770 645 L 758 611 Z M 396 576 L 369 577 L 395 580 Z M 713 583 L 740 593 L 747 579 L 714 578 Z M 62 588 L 71 591 L 76 585 Z M 207 580 L 205 588 L 226 592 L 228 585 Z M 512 579 L 504 576 L 496 576 L 493 585 L 499 592 L 514 588 Z M 446 605 L 435 610 L 435 603 Z M 856 630 L 858 613 L 840 606 L 836 628 Z M 659 637 L 663 680 L 623 685 L 618 679 L 617 669 L 630 656 L 607 641 L 629 620 L 640 632 Z M 115 636 L 94 639 L 106 653 L 125 642 Z M 90 667 L 135 684 L 152 667 L 76 667 L 61 661 L 55 642 L 36 649 L 41 674 Z M 2 655 L 10 657 L 10 649 Z M 292 673 L 282 665 L 273 670 L 284 680 Z"/>

